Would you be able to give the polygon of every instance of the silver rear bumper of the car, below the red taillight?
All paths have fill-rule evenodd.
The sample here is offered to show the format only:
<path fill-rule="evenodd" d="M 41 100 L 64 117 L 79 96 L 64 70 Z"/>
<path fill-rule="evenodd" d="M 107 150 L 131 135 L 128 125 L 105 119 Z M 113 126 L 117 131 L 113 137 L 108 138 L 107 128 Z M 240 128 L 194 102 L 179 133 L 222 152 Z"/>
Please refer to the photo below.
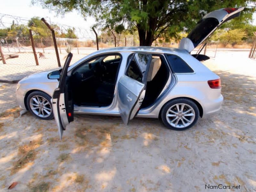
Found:
<path fill-rule="evenodd" d="M 210 116 L 219 113 L 221 105 L 223 103 L 223 96 L 220 95 L 216 100 L 211 100 L 211 102 L 204 102 L 204 110 L 202 118 L 209 118 Z"/>

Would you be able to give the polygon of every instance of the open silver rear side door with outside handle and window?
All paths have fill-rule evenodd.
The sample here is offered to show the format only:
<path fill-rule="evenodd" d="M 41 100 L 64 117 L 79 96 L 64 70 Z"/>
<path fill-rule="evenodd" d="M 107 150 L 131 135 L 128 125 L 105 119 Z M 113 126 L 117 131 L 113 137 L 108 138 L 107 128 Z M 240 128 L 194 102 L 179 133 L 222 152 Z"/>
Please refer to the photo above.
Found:
<path fill-rule="evenodd" d="M 146 92 L 151 59 L 151 54 L 134 53 L 125 74 L 118 81 L 118 108 L 124 124 L 128 124 L 140 109 Z"/>

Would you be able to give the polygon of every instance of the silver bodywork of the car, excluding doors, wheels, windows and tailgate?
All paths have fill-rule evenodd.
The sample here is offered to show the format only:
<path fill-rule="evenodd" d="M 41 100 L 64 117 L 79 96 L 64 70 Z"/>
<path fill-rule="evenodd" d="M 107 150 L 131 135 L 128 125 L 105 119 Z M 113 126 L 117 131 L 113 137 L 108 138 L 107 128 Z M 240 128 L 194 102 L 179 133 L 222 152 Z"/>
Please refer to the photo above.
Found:
<path fill-rule="evenodd" d="M 200 61 L 196 60 L 196 58 L 191 56 L 186 50 L 160 47 L 116 47 L 110 49 L 102 49 L 84 57 L 83 59 L 69 66 L 68 75 L 70 75 L 72 69 L 79 65 L 81 62 L 88 60 L 93 56 L 111 52 L 118 52 L 122 54 L 123 58 L 119 67 L 117 82 L 125 73 L 127 58 L 134 52 L 147 52 L 157 54 L 166 53 L 178 55 L 195 71 L 195 73 L 192 74 L 173 74 L 170 71 L 171 76 L 168 84 L 165 86 L 165 90 L 159 95 L 159 97 L 156 99 L 156 102 L 152 106 L 140 109 L 137 117 L 158 118 L 161 108 L 164 106 L 164 104 L 178 97 L 191 98 L 200 103 L 204 111 L 203 118 L 208 114 L 211 114 L 211 112 L 215 112 L 220 109 L 220 105 L 223 100 L 223 97 L 220 94 L 221 89 L 210 89 L 209 85 L 207 84 L 208 80 L 218 79 L 219 76 L 205 67 Z M 171 66 L 168 65 L 168 67 L 171 69 Z M 19 103 L 21 106 L 24 106 L 25 95 L 29 90 L 41 90 L 49 95 L 52 95 L 53 90 L 57 87 L 58 81 L 50 80 L 47 78 L 47 74 L 50 72 L 51 71 L 33 74 L 20 81 L 21 86 L 19 90 L 16 91 L 16 94 L 17 97 L 19 97 Z M 30 80 L 32 78 L 33 81 Z M 200 86 L 196 86 L 195 84 L 197 83 L 199 83 Z M 209 90 L 212 91 L 211 94 L 208 94 Z M 107 107 L 82 107 L 74 105 L 74 113 L 120 116 L 116 94 L 117 86 L 115 87 L 114 99 L 111 105 Z M 22 98 L 20 98 L 21 95 Z"/>

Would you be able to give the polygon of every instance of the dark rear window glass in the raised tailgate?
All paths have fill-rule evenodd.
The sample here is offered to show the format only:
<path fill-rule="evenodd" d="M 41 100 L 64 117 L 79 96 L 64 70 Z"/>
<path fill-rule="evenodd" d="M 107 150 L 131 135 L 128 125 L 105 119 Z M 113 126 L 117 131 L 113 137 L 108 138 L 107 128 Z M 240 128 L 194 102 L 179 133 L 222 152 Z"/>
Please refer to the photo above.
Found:
<path fill-rule="evenodd" d="M 188 34 L 187 38 L 189 38 L 194 47 L 200 44 L 205 37 L 211 35 L 211 32 L 214 28 L 219 25 L 219 21 L 216 18 L 205 18 L 202 19 L 196 27 Z"/>

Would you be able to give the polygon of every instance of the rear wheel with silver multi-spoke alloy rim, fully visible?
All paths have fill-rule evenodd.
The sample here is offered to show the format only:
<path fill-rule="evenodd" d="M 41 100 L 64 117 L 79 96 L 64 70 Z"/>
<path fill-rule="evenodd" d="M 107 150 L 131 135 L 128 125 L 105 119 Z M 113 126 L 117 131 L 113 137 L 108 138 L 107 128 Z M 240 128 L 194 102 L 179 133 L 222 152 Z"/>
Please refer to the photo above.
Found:
<path fill-rule="evenodd" d="M 161 118 L 167 128 L 182 131 L 189 129 L 197 123 L 199 109 L 192 100 L 174 99 L 164 105 L 161 110 Z"/>

